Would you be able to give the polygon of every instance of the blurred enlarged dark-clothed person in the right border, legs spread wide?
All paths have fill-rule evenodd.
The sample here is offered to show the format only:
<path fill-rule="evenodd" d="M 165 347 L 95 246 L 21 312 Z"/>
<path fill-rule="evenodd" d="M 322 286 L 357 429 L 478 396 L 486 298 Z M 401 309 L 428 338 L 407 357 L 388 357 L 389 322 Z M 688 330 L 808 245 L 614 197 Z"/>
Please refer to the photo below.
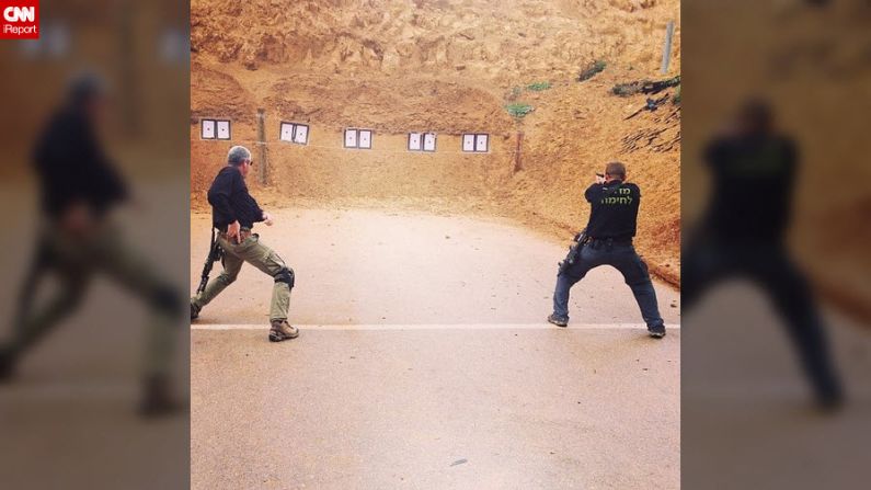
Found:
<path fill-rule="evenodd" d="M 844 396 L 823 320 L 784 243 L 798 173 L 795 145 L 777 133 L 768 104 L 752 100 L 709 144 L 704 159 L 712 198 L 684 253 L 684 306 L 690 310 L 724 280 L 752 281 L 782 318 L 820 407 L 838 408 Z"/>

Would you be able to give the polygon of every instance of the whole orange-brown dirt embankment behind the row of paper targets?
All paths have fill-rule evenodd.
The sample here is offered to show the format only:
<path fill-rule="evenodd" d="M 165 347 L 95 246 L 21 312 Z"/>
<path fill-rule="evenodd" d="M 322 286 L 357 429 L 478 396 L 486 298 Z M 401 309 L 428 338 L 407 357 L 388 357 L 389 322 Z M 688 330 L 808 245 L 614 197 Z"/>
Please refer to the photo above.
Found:
<path fill-rule="evenodd" d="M 257 192 L 272 206 L 491 214 L 565 238 L 586 219 L 594 173 L 619 159 L 642 187 L 639 248 L 677 284 L 679 106 L 627 119 L 645 96 L 610 89 L 658 78 L 665 24 L 678 15 L 676 0 L 195 0 L 192 201 L 204 204 L 228 147 L 199 140 L 205 116 L 233 119 L 230 143 L 265 156 L 267 185 Z M 679 52 L 678 27 L 671 75 Z M 578 82 L 597 59 L 605 70 Z M 531 112 L 515 118 L 513 103 Z M 282 121 L 309 124 L 309 145 L 280 141 Z M 344 127 L 374 129 L 373 149 L 344 149 Z M 408 132 L 437 133 L 437 151 L 409 152 Z M 489 133 L 490 151 L 463 153 L 467 132 Z"/>

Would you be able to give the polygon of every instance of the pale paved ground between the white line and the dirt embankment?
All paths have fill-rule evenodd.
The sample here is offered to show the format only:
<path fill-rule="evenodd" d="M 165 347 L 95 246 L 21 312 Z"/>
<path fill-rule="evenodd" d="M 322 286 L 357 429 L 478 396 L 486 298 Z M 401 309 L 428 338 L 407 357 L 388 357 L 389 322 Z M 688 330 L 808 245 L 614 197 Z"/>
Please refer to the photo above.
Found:
<path fill-rule="evenodd" d="M 290 321 L 299 324 L 541 323 L 551 311 L 564 243 L 509 220 L 408 212 L 287 209 L 261 241 L 296 273 Z M 191 221 L 191 287 L 208 251 L 209 215 Z M 216 264 L 211 277 L 220 272 Z M 237 283 L 197 324 L 268 324 L 273 278 L 243 265 Z M 679 323 L 679 293 L 657 285 L 666 323 Z M 632 292 L 598 267 L 572 289 L 583 323 L 641 323 Z"/>

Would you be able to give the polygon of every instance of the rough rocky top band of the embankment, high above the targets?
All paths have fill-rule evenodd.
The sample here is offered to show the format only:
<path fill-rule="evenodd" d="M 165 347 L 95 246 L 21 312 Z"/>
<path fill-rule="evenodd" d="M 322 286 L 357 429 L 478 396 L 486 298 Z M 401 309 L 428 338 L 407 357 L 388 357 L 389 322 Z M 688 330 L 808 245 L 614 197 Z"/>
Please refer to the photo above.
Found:
<path fill-rule="evenodd" d="M 191 42 L 248 69 L 569 76 L 597 57 L 655 65 L 677 15 L 677 0 L 194 0 Z"/>

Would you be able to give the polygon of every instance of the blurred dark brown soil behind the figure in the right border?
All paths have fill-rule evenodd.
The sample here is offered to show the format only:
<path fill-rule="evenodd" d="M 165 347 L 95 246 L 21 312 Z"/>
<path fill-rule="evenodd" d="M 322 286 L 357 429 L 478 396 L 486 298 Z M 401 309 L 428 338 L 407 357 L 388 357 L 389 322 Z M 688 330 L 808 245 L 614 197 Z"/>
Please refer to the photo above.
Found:
<path fill-rule="evenodd" d="M 684 4 L 685 20 L 694 25 L 687 55 L 717 60 L 685 69 L 694 83 L 684 91 L 687 121 L 692 121 L 683 149 L 684 225 L 691 229 L 710 197 L 703 146 L 747 96 L 764 96 L 776 110 L 780 130 L 800 148 L 790 248 L 814 289 L 868 326 L 871 138 L 856 128 L 868 126 L 871 111 L 871 65 L 860 55 L 871 31 L 868 7 L 834 3 L 821 12 L 796 2 L 789 15 L 779 10 L 790 3 Z M 740 42 L 735 25 L 741 25 Z"/>

